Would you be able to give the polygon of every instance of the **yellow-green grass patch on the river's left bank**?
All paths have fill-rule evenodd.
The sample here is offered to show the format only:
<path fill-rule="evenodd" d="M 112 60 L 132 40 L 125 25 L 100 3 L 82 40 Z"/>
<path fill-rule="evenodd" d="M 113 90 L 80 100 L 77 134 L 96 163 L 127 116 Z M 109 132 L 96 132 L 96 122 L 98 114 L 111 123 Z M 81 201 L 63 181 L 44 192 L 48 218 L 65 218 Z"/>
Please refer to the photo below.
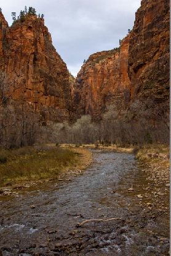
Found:
<path fill-rule="evenodd" d="M 55 178 L 66 169 L 83 169 L 89 164 L 90 152 L 45 145 L 2 150 L 0 161 L 0 184 L 9 186 L 26 181 Z"/>

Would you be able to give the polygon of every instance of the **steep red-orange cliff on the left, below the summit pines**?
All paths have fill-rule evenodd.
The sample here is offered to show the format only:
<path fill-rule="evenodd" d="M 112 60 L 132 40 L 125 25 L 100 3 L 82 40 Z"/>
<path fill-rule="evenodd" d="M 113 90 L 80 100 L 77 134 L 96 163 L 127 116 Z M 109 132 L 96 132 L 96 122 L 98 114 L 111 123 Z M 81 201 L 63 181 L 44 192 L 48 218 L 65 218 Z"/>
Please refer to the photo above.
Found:
<path fill-rule="evenodd" d="M 26 14 L 11 27 L 0 14 L 1 67 L 12 98 L 26 101 L 41 121 L 70 117 L 71 82 L 65 62 L 52 45 L 44 19 Z"/>

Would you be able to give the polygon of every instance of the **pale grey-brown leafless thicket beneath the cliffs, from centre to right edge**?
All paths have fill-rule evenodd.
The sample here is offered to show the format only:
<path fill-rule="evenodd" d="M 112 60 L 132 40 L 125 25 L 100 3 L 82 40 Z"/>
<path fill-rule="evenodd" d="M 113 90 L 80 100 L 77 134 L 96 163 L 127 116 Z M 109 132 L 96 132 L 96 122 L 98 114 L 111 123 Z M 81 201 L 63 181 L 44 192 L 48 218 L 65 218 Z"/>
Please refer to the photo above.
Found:
<path fill-rule="evenodd" d="M 147 109 L 137 101 L 131 111 L 127 111 L 124 117 L 118 118 L 117 108 L 109 106 L 99 122 L 92 122 L 91 117 L 86 115 L 72 125 L 64 122 L 42 127 L 42 132 L 45 133 L 46 130 L 46 134 L 49 134 L 48 139 L 54 143 L 78 145 L 94 143 L 104 146 L 117 145 L 117 147 L 169 143 L 169 117 L 167 113 L 161 111 L 161 114 L 156 114 L 153 110 Z M 156 119 L 152 119 L 153 114 L 157 116 Z M 151 116 L 150 121 L 149 116 Z"/>

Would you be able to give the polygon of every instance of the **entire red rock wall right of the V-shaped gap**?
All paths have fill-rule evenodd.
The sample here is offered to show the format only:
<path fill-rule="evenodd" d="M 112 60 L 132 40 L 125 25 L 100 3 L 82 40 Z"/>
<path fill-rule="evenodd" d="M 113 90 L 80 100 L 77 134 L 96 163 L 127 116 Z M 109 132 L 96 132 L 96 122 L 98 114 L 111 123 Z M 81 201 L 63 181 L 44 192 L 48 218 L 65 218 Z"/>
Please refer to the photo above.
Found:
<path fill-rule="evenodd" d="M 78 116 L 98 120 L 108 105 L 129 112 L 136 100 L 150 102 L 156 115 L 169 111 L 169 1 L 143 0 L 135 17 L 119 49 L 92 54 L 82 66 L 74 90 Z"/>

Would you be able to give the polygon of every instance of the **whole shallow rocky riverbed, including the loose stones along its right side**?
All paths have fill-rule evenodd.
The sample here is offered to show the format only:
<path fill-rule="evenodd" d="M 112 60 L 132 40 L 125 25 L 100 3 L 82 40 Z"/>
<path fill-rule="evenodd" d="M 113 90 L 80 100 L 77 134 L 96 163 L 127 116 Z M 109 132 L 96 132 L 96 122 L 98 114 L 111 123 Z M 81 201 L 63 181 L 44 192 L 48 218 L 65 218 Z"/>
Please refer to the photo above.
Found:
<path fill-rule="evenodd" d="M 3 256 L 169 255 L 169 168 L 127 153 L 93 151 L 93 158 L 84 173 L 4 189 Z M 78 226 L 111 218 L 121 220 Z"/>

